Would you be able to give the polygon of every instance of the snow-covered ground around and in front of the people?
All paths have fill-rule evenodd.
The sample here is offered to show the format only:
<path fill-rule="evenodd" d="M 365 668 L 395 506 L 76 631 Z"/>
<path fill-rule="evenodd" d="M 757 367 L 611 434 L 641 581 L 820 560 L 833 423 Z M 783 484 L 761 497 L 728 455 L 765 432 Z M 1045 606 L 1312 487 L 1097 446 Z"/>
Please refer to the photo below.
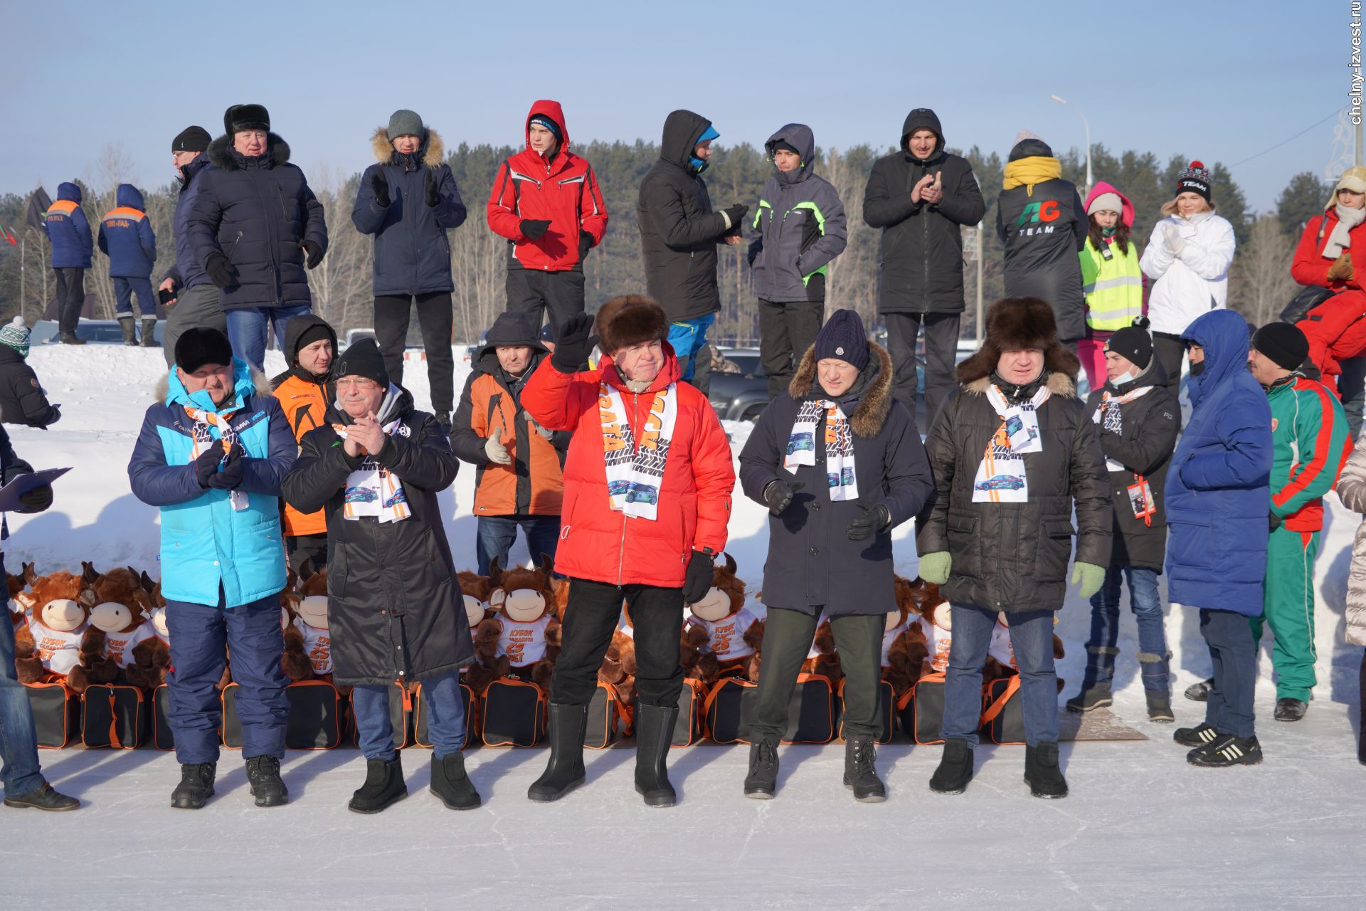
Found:
<path fill-rule="evenodd" d="M 128 492 L 126 467 L 142 412 L 163 372 L 160 351 L 116 346 L 38 347 L 30 363 L 63 406 L 52 430 L 8 428 L 36 467 L 75 466 L 52 509 L 10 516 L 7 564 L 40 572 L 131 564 L 158 576 L 157 512 Z M 456 359 L 458 382 L 467 369 Z M 283 369 L 279 355 L 266 361 Z M 428 407 L 425 365 L 407 385 Z M 459 388 L 459 387 L 458 387 Z M 747 428 L 729 425 L 735 449 Z M 474 563 L 474 473 L 443 494 L 452 550 Z M 1366 836 L 1355 759 L 1358 649 L 1343 645 L 1351 539 L 1358 516 L 1329 497 L 1318 560 L 1317 701 L 1298 725 L 1270 720 L 1274 687 L 1262 658 L 1255 769 L 1188 766 L 1172 725 L 1145 720 L 1126 615 L 1115 712 L 1146 742 L 1064 744 L 1072 795 L 1035 800 L 1020 781 L 1023 748 L 982 747 L 978 777 L 960 798 L 929 792 L 938 747 L 881 748 L 887 803 L 856 804 L 840 787 L 843 747 L 783 753 L 773 802 L 740 796 L 746 750 L 675 750 L 680 803 L 647 810 L 632 791 L 632 751 L 590 754 L 587 787 L 559 804 L 531 804 L 527 784 L 542 750 L 469 753 L 485 806 L 444 810 L 426 794 L 426 750 L 404 751 L 413 796 L 378 817 L 344 810 L 365 774 L 355 750 L 292 753 L 292 803 L 257 810 L 231 753 L 219 796 L 199 813 L 168 804 L 173 757 L 152 750 L 44 751 L 45 770 L 81 796 L 76 814 L 0 810 L 0 908 L 79 899 L 105 908 L 906 907 L 968 904 L 1152 908 L 1218 903 L 1247 908 L 1362 907 Z M 757 591 L 768 546 L 766 511 L 736 496 L 728 550 Z M 908 527 L 896 535 L 897 571 L 915 575 Z M 514 557 L 525 559 L 519 542 Z M 762 611 L 762 605 L 755 605 Z M 1194 612 L 1175 608 L 1179 724 L 1202 706 L 1180 690 L 1209 672 Z M 1083 667 L 1089 605 L 1075 597 L 1057 627 L 1072 695 Z M 1355 859 L 1354 859 L 1355 858 Z"/>

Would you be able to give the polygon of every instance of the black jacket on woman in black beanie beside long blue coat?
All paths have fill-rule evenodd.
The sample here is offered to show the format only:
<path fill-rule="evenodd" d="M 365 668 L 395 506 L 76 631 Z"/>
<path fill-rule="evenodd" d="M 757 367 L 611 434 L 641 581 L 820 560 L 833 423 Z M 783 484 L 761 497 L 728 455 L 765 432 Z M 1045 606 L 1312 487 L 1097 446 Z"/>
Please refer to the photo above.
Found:
<path fill-rule="evenodd" d="M 1115 500 L 1115 550 L 1109 560 L 1113 567 L 1146 567 L 1161 572 L 1167 559 L 1167 467 L 1182 432 L 1182 408 L 1165 382 L 1167 372 L 1154 356 L 1147 370 L 1134 380 L 1119 387 L 1106 382 L 1086 400 L 1086 412 L 1094 421 L 1096 410 L 1106 392 L 1112 397 L 1123 397 L 1138 389 L 1147 389 L 1132 402 L 1119 406 L 1117 433 L 1106 429 L 1104 415 L 1097 425 L 1109 467 L 1111 496 Z M 1130 505 L 1128 489 L 1135 483 L 1134 475 L 1142 475 L 1147 481 L 1157 508 L 1157 512 L 1147 516 L 1147 523 L 1135 516 Z"/>

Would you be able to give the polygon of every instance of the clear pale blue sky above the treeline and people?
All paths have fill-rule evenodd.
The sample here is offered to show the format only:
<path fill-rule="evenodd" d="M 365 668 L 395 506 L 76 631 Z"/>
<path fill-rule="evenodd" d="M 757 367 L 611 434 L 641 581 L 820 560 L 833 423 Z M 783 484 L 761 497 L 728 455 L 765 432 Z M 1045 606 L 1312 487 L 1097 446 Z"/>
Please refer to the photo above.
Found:
<path fill-rule="evenodd" d="M 578 141 L 658 141 L 679 107 L 721 143 L 791 120 L 821 146 L 891 145 L 934 108 L 949 145 L 1004 154 L 1029 127 L 1082 148 L 1247 158 L 1347 104 L 1343 1 L 1191 3 L 74 3 L 0 0 L 0 193 L 98 183 L 122 142 L 133 180 L 171 176 L 171 138 L 217 135 L 260 102 L 320 182 L 361 169 L 413 108 L 451 145 L 515 143 L 535 98 Z M 1233 168 L 1257 209 L 1321 172 L 1336 117 Z M 1214 190 L 1216 198 L 1218 190 Z"/>

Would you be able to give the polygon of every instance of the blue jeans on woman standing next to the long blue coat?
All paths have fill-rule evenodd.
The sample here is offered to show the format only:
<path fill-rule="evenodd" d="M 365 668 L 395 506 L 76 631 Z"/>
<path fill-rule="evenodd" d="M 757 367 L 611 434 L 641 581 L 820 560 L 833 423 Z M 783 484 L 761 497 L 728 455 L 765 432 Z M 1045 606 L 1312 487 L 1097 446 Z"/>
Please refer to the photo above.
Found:
<path fill-rule="evenodd" d="M 1115 656 L 1119 654 L 1120 587 L 1128 576 L 1128 605 L 1138 621 L 1138 664 L 1143 688 L 1167 692 L 1168 651 L 1162 628 L 1162 600 L 1157 594 L 1157 570 L 1146 567 L 1109 567 L 1100 591 L 1091 595 L 1091 638 L 1086 643 L 1086 676 L 1082 688 L 1101 683 L 1109 686 L 1115 677 Z"/>

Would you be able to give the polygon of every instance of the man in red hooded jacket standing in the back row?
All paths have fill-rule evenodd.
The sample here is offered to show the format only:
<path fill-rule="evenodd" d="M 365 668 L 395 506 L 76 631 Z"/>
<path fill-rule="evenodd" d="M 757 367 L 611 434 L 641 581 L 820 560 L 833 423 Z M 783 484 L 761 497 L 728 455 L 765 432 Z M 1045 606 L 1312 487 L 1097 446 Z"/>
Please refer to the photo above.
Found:
<path fill-rule="evenodd" d="M 583 257 L 602 243 L 607 205 L 587 161 L 570 152 L 559 101 L 526 116 L 526 149 L 503 163 L 489 227 L 508 239 L 508 310 L 549 310 L 550 326 L 583 313 Z"/>

